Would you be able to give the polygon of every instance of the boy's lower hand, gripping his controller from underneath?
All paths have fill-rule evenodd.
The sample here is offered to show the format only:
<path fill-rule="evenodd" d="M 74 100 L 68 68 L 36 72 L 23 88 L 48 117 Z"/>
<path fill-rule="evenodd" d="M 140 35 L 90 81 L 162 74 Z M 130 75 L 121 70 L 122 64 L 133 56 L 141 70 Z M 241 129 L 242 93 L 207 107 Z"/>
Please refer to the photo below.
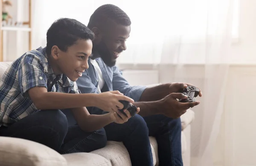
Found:
<path fill-rule="evenodd" d="M 137 108 L 137 113 L 139 112 L 140 112 L 140 108 Z M 128 110 L 124 110 L 124 113 L 127 116 L 121 113 L 119 110 L 117 112 L 111 113 L 111 120 L 117 124 L 123 124 L 127 122 L 128 119 L 131 118 L 131 114 Z"/>

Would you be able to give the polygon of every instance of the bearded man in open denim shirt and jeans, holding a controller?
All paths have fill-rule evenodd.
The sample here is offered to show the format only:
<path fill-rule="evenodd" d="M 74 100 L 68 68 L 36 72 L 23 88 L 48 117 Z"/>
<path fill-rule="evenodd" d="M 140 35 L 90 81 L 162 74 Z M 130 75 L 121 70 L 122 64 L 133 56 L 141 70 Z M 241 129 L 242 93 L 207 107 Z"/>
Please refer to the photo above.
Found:
<path fill-rule="evenodd" d="M 77 81 L 81 93 L 102 93 L 119 90 L 134 99 L 139 115 L 124 124 L 111 123 L 104 127 L 107 139 L 122 141 L 128 149 L 133 166 L 152 166 L 153 159 L 148 135 L 158 143 L 160 166 L 182 166 L 180 115 L 200 102 L 181 103 L 187 98 L 179 90 L 188 84 L 172 83 L 156 87 L 130 86 L 115 66 L 116 58 L 126 50 L 125 40 L 131 31 L 131 20 L 119 7 L 100 6 L 90 17 L 88 28 L 95 34 L 93 56 L 89 68 Z M 202 93 L 200 91 L 199 96 Z M 106 112 L 88 107 L 92 114 Z"/>

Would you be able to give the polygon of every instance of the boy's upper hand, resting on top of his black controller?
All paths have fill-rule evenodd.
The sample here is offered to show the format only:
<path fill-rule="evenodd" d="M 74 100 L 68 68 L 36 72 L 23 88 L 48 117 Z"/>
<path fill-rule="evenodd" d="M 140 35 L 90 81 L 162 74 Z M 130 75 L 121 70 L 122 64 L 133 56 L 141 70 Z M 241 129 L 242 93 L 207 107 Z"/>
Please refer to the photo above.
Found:
<path fill-rule="evenodd" d="M 122 109 L 124 105 L 119 100 L 129 101 L 134 103 L 132 98 L 124 96 L 118 90 L 100 93 L 96 98 L 96 107 L 107 112 L 118 112 L 118 109 Z"/>

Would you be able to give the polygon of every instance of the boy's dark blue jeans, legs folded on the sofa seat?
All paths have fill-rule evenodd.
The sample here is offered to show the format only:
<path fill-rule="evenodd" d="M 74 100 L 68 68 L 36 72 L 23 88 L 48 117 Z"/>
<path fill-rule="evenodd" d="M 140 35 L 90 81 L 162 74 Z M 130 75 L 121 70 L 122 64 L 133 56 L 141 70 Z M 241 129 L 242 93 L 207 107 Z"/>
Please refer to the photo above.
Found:
<path fill-rule="evenodd" d="M 84 132 L 78 125 L 68 127 L 60 110 L 41 110 L 9 127 L 0 127 L 0 136 L 23 138 L 44 144 L 61 154 L 91 152 L 107 143 L 105 130 Z"/>

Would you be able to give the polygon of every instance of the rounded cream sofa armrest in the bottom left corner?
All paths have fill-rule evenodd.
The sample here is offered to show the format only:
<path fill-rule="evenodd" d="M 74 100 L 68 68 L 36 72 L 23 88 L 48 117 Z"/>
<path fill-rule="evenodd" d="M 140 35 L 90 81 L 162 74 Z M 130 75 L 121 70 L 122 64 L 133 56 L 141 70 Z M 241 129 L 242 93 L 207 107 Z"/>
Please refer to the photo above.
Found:
<path fill-rule="evenodd" d="M 11 137 L 0 137 L 0 163 L 3 166 L 67 166 L 66 159 L 55 150 Z"/>

